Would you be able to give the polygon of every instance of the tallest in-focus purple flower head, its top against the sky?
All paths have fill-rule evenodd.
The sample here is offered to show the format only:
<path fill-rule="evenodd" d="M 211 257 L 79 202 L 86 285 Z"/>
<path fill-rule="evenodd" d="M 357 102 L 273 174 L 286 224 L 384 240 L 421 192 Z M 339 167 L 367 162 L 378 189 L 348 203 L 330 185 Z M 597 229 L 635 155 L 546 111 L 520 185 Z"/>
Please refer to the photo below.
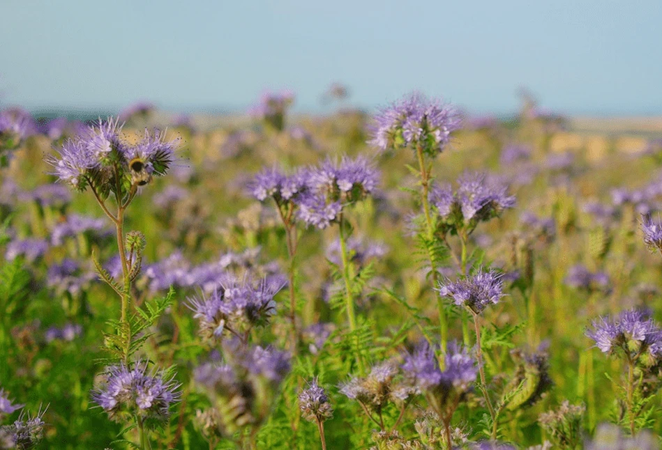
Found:
<path fill-rule="evenodd" d="M 421 146 L 424 153 L 433 156 L 446 148 L 451 132 L 458 130 L 460 123 L 453 107 L 411 93 L 375 115 L 370 144 L 380 150 Z"/>

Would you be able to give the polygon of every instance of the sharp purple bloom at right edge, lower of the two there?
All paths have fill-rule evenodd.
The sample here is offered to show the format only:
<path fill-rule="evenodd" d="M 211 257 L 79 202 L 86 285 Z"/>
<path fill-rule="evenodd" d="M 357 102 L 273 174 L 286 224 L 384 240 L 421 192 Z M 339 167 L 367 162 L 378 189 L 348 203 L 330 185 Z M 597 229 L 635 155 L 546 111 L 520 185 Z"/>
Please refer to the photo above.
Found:
<path fill-rule="evenodd" d="M 647 352 L 655 358 L 662 356 L 662 329 L 645 311 L 630 309 L 615 319 L 595 320 L 593 329 L 586 335 L 604 353 L 612 354 L 620 349 L 633 358 Z"/>

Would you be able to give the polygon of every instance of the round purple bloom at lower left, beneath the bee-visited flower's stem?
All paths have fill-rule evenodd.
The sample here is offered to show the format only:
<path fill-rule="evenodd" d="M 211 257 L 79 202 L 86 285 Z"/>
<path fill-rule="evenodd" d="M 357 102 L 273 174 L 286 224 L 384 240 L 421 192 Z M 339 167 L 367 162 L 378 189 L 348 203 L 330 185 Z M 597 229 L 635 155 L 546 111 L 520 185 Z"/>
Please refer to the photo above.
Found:
<path fill-rule="evenodd" d="M 124 414 L 142 419 L 166 421 L 170 405 L 179 400 L 179 384 L 163 373 L 146 373 L 147 363 L 137 362 L 133 369 L 123 363 L 106 368 L 100 387 L 92 392 L 97 403 L 112 420 L 121 421 Z"/>

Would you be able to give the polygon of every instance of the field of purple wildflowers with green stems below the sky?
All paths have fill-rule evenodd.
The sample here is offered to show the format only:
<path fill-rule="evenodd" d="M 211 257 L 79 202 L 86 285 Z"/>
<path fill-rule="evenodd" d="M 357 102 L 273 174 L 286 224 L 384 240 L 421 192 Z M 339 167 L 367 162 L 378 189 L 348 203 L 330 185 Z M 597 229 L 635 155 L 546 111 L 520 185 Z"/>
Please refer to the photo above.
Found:
<path fill-rule="evenodd" d="M 0 112 L 0 449 L 661 448 L 662 132 L 293 102 Z"/>

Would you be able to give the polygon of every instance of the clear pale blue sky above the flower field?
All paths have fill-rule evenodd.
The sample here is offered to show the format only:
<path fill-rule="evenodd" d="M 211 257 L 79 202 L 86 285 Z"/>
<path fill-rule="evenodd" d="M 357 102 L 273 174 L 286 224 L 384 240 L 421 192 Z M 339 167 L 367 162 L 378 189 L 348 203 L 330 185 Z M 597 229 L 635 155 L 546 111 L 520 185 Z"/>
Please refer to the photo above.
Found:
<path fill-rule="evenodd" d="M 566 114 L 662 114 L 662 2 L 1 0 L 0 103 L 243 109 L 331 82 L 366 108 L 418 89 L 474 113 L 519 86 Z"/>

